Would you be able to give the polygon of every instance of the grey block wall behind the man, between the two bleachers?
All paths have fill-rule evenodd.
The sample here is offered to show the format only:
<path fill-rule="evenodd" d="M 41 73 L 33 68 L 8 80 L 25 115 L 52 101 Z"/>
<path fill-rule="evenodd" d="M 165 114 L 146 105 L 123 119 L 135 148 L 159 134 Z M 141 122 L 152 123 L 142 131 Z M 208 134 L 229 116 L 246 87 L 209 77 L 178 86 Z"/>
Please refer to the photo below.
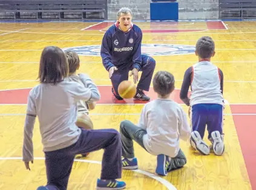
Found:
<path fill-rule="evenodd" d="M 108 19 L 115 20 L 121 7 L 133 11 L 133 19 L 150 19 L 151 0 L 108 0 Z M 178 0 L 179 19 L 218 19 L 218 0 Z"/>

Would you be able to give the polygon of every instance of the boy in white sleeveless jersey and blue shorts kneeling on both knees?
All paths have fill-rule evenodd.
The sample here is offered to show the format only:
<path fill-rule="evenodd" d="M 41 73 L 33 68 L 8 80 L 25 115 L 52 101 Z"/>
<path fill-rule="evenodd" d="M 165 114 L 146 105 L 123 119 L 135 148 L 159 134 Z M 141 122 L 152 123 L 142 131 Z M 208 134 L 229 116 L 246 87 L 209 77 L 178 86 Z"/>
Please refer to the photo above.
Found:
<path fill-rule="evenodd" d="M 208 155 L 212 148 L 217 156 L 221 156 L 225 149 L 222 129 L 225 107 L 223 73 L 211 62 L 211 57 L 215 54 L 212 38 L 200 38 L 195 47 L 195 54 L 199 57 L 199 62 L 186 70 L 180 90 L 180 99 L 189 106 L 192 124 L 191 145 L 203 155 Z M 208 139 L 212 143 L 210 147 L 203 141 L 206 125 Z"/>

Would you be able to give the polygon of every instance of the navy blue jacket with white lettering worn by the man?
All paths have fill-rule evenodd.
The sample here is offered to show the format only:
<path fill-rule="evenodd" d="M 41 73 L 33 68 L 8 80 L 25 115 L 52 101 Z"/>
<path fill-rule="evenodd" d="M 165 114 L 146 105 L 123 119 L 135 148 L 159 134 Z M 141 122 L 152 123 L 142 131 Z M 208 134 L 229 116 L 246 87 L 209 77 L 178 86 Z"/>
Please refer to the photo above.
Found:
<path fill-rule="evenodd" d="M 108 71 L 114 66 L 140 69 L 142 64 L 141 44 L 142 30 L 137 25 L 131 24 L 131 29 L 124 33 L 119 29 L 117 21 L 108 28 L 102 39 L 100 55 L 106 70 Z"/>

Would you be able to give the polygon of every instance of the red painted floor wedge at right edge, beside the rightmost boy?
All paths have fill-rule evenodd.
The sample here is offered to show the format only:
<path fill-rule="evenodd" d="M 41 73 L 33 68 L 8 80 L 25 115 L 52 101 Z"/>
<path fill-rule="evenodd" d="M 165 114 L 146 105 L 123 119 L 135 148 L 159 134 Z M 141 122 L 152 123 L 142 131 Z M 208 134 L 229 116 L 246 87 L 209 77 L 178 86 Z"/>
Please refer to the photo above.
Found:
<path fill-rule="evenodd" d="M 248 113 L 250 110 L 255 109 L 255 105 L 231 105 L 232 113 L 239 111 L 239 113 Z M 246 110 L 248 109 L 248 110 Z M 254 111 L 255 113 L 256 111 Z M 245 165 L 249 175 L 252 189 L 256 189 L 256 146 L 255 146 L 255 120 L 256 116 L 233 116 L 235 128 L 237 129 L 237 135 L 241 146 L 241 151 L 243 153 L 243 158 L 245 160 Z"/>

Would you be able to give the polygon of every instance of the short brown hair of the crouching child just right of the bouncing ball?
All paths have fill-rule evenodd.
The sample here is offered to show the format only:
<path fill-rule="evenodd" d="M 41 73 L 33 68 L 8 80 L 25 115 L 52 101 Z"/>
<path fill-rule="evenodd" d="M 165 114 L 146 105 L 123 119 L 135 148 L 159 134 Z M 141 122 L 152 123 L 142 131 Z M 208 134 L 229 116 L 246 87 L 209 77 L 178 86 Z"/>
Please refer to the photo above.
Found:
<path fill-rule="evenodd" d="M 153 88 L 157 94 L 166 96 L 174 90 L 174 76 L 168 71 L 158 71 L 153 79 Z"/>

